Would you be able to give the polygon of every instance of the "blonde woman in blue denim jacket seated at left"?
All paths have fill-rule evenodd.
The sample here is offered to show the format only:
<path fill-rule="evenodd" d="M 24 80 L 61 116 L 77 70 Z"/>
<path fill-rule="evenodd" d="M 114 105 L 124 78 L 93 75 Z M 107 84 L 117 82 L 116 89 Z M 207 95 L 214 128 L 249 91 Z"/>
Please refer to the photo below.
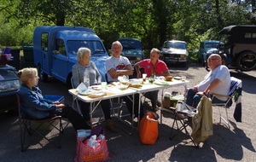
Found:
<path fill-rule="evenodd" d="M 75 130 L 88 130 L 90 126 L 73 110 L 59 101 L 44 99 L 38 88 L 38 70 L 36 68 L 24 68 L 18 72 L 21 86 L 17 94 L 20 96 L 21 115 L 28 119 L 49 119 L 55 115 L 67 118 Z"/>

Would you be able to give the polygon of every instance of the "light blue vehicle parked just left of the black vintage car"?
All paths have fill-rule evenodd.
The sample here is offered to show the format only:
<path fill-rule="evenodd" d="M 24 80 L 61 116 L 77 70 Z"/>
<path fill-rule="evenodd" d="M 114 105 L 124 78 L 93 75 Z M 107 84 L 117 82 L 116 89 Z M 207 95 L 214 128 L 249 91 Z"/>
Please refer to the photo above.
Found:
<path fill-rule="evenodd" d="M 200 48 L 198 51 L 198 61 L 201 62 L 202 66 L 205 66 L 207 60 L 207 54 L 212 54 L 212 51 L 218 51 L 218 45 L 224 44 L 223 42 L 217 40 L 205 40 L 200 43 Z"/>

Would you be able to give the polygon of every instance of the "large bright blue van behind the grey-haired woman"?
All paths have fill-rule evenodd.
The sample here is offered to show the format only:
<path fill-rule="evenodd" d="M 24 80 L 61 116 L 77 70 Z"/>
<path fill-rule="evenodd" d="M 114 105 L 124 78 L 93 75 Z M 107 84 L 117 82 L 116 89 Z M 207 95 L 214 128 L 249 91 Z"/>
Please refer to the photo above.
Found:
<path fill-rule="evenodd" d="M 90 60 L 95 62 L 103 81 L 108 53 L 93 30 L 77 26 L 36 27 L 33 33 L 33 55 L 41 80 L 47 81 L 50 75 L 70 85 L 72 67 L 77 62 L 76 54 L 80 47 L 91 50 Z"/>

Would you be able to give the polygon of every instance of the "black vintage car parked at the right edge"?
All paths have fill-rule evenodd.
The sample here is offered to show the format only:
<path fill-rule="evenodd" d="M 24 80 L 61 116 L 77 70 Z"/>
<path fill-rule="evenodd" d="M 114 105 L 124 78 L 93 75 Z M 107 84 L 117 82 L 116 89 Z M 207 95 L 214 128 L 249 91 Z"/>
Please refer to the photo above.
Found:
<path fill-rule="evenodd" d="M 245 72 L 256 69 L 256 26 L 226 26 L 219 34 L 224 42 L 219 53 L 229 59 L 227 67 Z"/>

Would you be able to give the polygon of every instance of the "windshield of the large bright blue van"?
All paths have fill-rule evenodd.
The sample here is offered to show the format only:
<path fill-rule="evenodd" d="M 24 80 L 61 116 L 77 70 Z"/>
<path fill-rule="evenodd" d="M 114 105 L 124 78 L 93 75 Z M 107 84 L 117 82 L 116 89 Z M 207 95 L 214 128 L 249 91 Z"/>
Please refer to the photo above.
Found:
<path fill-rule="evenodd" d="M 106 52 L 100 41 L 67 41 L 67 52 L 69 54 L 77 55 L 77 51 L 80 47 L 86 47 L 90 49 L 91 55 L 104 54 Z"/>

